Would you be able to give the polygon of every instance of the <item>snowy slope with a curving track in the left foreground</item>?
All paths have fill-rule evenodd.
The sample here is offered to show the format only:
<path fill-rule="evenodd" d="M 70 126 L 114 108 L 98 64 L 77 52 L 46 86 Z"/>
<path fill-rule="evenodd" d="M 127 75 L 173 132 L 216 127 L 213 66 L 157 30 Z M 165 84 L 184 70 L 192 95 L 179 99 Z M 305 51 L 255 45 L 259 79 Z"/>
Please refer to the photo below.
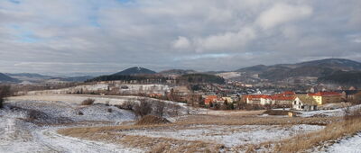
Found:
<path fill-rule="evenodd" d="M 134 120 L 133 112 L 113 108 L 114 111 L 110 113 L 106 111 L 108 107 L 113 108 L 106 105 L 79 107 L 74 103 L 44 101 L 7 103 L 5 109 L 0 110 L 0 152 L 143 152 L 121 145 L 65 137 L 56 132 L 60 128 L 111 125 Z M 28 120 L 30 112 L 34 110 L 38 112 L 35 121 L 45 122 L 45 125 Z M 75 112 L 79 110 L 84 114 L 77 115 Z M 57 125 L 59 119 L 67 119 L 63 121 L 68 121 L 69 125 Z"/>

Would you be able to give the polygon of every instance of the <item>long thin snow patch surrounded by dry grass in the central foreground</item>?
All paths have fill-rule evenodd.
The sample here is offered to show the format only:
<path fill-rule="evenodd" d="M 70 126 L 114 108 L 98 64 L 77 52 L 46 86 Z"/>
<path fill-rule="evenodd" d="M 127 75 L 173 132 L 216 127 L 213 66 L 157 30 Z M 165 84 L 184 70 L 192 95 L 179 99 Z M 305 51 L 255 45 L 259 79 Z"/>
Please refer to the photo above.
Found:
<path fill-rule="evenodd" d="M 323 126 L 318 125 L 293 125 L 291 127 L 277 125 L 192 125 L 153 130 L 128 130 L 124 134 L 153 138 L 202 140 L 232 148 L 245 144 L 259 144 L 268 140 L 280 140 L 321 129 Z"/>

